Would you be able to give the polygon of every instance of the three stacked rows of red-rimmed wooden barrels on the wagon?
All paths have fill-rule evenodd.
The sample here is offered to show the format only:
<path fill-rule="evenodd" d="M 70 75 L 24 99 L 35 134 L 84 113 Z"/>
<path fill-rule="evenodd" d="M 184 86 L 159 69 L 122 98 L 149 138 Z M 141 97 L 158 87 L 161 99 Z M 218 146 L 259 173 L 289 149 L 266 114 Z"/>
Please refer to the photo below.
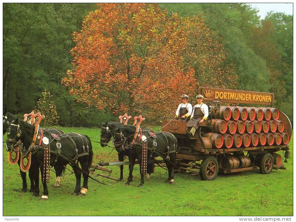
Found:
<path fill-rule="evenodd" d="M 289 135 L 275 108 L 221 106 L 211 121 L 211 132 L 202 135 L 213 148 L 287 145 Z M 206 138 L 205 138 L 206 137 Z"/>

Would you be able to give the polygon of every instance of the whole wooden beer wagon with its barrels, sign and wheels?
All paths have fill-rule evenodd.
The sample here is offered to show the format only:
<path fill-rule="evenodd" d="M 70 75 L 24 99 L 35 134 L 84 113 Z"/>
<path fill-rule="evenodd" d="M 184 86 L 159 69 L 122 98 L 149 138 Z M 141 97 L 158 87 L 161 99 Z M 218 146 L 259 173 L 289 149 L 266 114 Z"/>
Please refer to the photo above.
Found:
<path fill-rule="evenodd" d="M 200 87 L 198 94 L 204 95 L 209 116 L 194 135 L 186 131 L 186 120 L 164 117 L 162 122 L 162 130 L 177 137 L 180 169 L 200 173 L 204 180 L 214 180 L 218 172 L 286 169 L 276 152 L 285 151 L 289 158 L 292 126 L 283 112 L 271 108 L 273 93 Z"/>

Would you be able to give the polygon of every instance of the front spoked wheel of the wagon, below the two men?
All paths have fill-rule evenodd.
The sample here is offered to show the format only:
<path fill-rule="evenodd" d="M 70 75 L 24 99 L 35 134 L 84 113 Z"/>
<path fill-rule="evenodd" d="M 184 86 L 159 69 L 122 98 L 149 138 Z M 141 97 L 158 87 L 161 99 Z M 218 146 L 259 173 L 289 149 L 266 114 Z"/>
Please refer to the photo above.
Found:
<path fill-rule="evenodd" d="M 215 157 L 208 157 L 201 162 L 200 175 L 203 180 L 214 180 L 218 174 L 219 165 Z"/>

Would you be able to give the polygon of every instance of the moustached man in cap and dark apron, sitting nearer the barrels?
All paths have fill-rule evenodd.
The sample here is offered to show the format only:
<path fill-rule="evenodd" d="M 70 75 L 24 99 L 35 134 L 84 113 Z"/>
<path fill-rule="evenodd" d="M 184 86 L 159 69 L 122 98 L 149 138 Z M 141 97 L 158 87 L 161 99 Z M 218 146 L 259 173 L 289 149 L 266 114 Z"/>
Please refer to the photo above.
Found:
<path fill-rule="evenodd" d="M 200 94 L 196 96 L 197 104 L 194 106 L 190 120 L 186 124 L 192 135 L 194 135 L 199 124 L 203 123 L 209 115 L 208 106 L 202 102 L 203 98 Z"/>

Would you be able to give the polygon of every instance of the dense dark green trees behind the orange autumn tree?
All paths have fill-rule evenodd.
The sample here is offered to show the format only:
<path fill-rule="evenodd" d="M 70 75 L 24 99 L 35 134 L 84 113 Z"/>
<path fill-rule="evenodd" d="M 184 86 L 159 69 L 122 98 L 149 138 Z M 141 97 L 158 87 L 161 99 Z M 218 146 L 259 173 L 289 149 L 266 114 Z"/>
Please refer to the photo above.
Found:
<path fill-rule="evenodd" d="M 260 20 L 245 3 L 161 3 L 160 7 L 167 9 L 168 16 L 203 18 L 224 48 L 225 60 L 219 65 L 233 65 L 238 84 L 232 88 L 274 92 L 274 106 L 292 120 L 293 16 L 270 12 Z M 95 4 L 3 4 L 4 107 L 28 113 L 47 89 L 57 106 L 59 125 L 98 126 L 116 119 L 109 107 L 96 109 L 77 102 L 79 98 L 61 84 L 73 68 L 71 34 L 80 32 L 85 16 L 95 9 Z"/>

